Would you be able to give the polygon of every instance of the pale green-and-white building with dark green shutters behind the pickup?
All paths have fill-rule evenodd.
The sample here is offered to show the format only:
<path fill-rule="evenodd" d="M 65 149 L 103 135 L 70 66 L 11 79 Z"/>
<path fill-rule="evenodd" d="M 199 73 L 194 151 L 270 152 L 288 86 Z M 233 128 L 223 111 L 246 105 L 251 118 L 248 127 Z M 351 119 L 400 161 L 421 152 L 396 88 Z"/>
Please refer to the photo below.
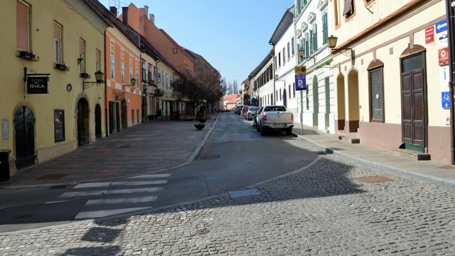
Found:
<path fill-rule="evenodd" d="M 331 34 L 327 20 L 329 0 L 295 0 L 295 37 L 303 56 L 296 66 L 306 66 L 307 90 L 298 93 L 296 121 L 335 134 L 333 56 L 327 46 Z M 303 50 L 303 51 L 302 51 Z"/>

